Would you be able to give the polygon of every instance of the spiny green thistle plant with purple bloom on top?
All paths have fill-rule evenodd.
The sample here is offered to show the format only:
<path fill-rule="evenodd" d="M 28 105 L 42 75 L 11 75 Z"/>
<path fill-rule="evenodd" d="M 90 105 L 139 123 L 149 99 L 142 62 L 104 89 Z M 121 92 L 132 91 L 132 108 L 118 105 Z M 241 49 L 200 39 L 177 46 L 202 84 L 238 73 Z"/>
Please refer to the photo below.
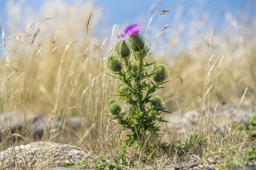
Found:
<path fill-rule="evenodd" d="M 120 148 L 124 157 L 128 146 L 141 149 L 147 145 L 150 136 L 161 136 L 156 122 L 167 122 L 161 117 L 164 110 L 163 100 L 154 97 L 157 89 L 163 88 L 168 78 L 166 66 L 154 66 L 156 62 L 148 62 L 149 46 L 141 34 L 140 24 L 125 27 L 124 33 L 118 34 L 115 55 L 108 58 L 108 67 L 121 83 L 118 85 L 116 96 L 108 103 L 108 111 L 113 115 L 116 124 L 122 125 L 118 132 L 125 129 L 130 131 L 127 138 L 122 140 L 124 146 Z M 124 110 L 123 103 L 127 104 Z"/>

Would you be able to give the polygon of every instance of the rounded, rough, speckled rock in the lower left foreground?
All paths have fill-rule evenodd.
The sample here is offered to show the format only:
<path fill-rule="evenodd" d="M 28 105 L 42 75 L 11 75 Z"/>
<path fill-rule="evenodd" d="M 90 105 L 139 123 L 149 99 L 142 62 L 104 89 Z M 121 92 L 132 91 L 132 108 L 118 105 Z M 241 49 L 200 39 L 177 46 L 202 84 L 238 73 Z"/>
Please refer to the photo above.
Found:
<path fill-rule="evenodd" d="M 0 169 L 38 169 L 42 167 L 60 167 L 73 160 L 79 164 L 88 160 L 88 153 L 73 145 L 51 142 L 35 142 L 15 146 L 0 152 Z"/>

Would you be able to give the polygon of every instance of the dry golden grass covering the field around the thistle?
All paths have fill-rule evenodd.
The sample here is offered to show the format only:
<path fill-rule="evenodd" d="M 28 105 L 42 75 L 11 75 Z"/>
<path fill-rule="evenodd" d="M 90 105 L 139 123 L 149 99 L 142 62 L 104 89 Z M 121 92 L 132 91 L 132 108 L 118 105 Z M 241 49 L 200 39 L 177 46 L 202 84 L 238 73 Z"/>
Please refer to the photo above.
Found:
<path fill-rule="evenodd" d="M 52 18 L 36 20 L 24 31 L 15 30 L 14 24 L 11 31 L 22 33 L 9 38 L 3 34 L 1 113 L 32 110 L 60 117 L 64 122 L 70 116 L 80 117 L 81 127 L 75 133 L 68 133 L 64 125 L 58 131 L 45 131 L 39 140 L 80 146 L 92 151 L 95 159 L 106 155 L 114 158 L 119 153 L 116 147 L 121 146 L 120 134 L 114 133 L 118 128 L 109 120 L 106 106 L 117 81 L 108 76 L 106 58 L 113 52 L 109 46 L 115 43 L 119 26 L 113 27 L 110 38 L 97 39 L 95 26 L 100 10 L 95 4 L 79 7 L 63 3 L 58 15 L 51 10 L 58 4 L 47 5 L 48 10 L 43 14 Z M 166 50 L 161 55 L 167 57 L 162 58 L 156 53 L 152 55 L 152 60 L 164 62 L 172 73 L 171 81 L 157 94 L 163 97 L 167 110 L 179 115 L 170 119 L 177 118 L 174 121 L 179 122 L 190 110 L 197 110 L 199 116 L 194 125 L 189 124 L 191 127 L 184 127 L 183 122 L 163 124 L 166 132 L 163 140 L 168 144 L 157 145 L 154 158 L 148 157 L 146 152 L 130 150 L 129 157 L 138 158 L 134 168 L 162 169 L 170 164 L 170 167 L 186 169 L 189 165 L 185 162 L 203 166 L 218 162 L 230 169 L 248 166 L 248 160 L 240 158 L 248 150 L 255 151 L 255 140 L 248 138 L 245 131 L 234 131 L 232 124 L 241 119 L 238 114 L 242 108 L 255 111 L 256 22 L 255 18 L 249 19 L 250 24 L 244 22 L 246 29 L 242 32 L 232 29 L 215 38 L 213 32 L 198 35 L 200 42 L 191 42 L 193 45 L 183 52 Z M 169 25 L 164 26 L 157 37 L 166 36 L 162 34 L 167 27 Z M 179 30 L 173 31 L 166 48 L 173 49 L 177 38 Z M 208 43 L 202 45 L 201 40 Z M 232 117 L 229 123 L 223 121 L 223 108 L 232 106 L 237 106 L 238 116 Z M 188 132 L 192 128 L 194 130 Z M 4 131 L 5 137 L 1 136 L 1 150 L 10 146 L 9 130 Z M 185 144 L 184 139 L 189 140 L 192 132 L 198 136 Z M 12 146 L 36 140 L 29 134 L 20 132 L 19 135 L 24 138 L 12 139 Z"/>

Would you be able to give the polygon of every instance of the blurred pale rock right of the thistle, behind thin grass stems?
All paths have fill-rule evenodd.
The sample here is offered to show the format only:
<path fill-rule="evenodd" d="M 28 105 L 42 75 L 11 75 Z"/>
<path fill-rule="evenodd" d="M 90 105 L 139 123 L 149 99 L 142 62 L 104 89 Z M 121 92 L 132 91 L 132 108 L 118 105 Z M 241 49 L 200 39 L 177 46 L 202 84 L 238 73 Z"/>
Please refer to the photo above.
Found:
<path fill-rule="evenodd" d="M 173 138 L 181 138 L 184 139 L 184 131 L 187 134 L 187 138 L 194 134 L 200 124 L 198 122 L 198 118 L 200 118 L 200 113 L 196 110 L 191 110 L 186 113 L 173 112 L 174 114 L 166 114 L 164 115 L 164 120 L 167 120 L 168 123 L 161 124 L 161 127 L 168 127 L 170 129 L 170 133 Z M 255 108 L 230 108 L 222 106 L 217 108 L 214 112 L 214 109 L 209 109 L 209 111 L 204 111 L 204 115 L 202 117 L 202 123 L 206 127 L 207 125 L 212 125 L 214 118 L 214 126 L 212 126 L 212 130 L 214 132 L 224 132 L 231 125 L 243 124 L 247 118 L 252 118 L 256 115 Z M 208 119 L 209 118 L 209 119 Z M 211 120 L 211 122 L 209 121 Z M 218 129 L 216 128 L 218 127 Z M 164 131 L 164 140 L 170 140 L 169 132 L 165 129 Z"/>

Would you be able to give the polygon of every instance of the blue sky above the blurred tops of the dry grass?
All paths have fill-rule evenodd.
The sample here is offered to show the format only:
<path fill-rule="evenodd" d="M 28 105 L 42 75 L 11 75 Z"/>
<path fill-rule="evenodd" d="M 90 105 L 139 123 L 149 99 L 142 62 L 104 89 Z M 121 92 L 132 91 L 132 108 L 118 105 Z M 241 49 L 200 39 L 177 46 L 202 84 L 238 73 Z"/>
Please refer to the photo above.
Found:
<path fill-rule="evenodd" d="M 10 0 L 9 0 L 10 1 Z M 18 0 L 14 0 L 18 1 Z M 30 6 L 33 10 L 38 10 L 45 3 L 44 0 L 23 0 L 25 6 Z M 52 0 L 54 1 L 54 0 Z M 72 4 L 71 0 L 63 0 L 67 3 Z M 8 0 L 0 0 L 0 29 L 8 25 L 8 17 L 6 9 L 6 4 Z M 84 0 L 86 2 L 86 0 Z M 232 16 L 237 18 L 238 22 L 241 19 L 241 16 L 244 13 L 248 15 L 255 16 L 256 13 L 256 1 L 253 0 L 162 0 L 162 1 L 153 1 L 153 0 L 95 0 L 96 4 L 102 6 L 102 13 L 105 18 L 108 18 L 109 31 L 114 24 L 129 24 L 134 21 L 141 20 L 143 18 L 145 23 L 148 23 L 150 14 L 148 9 L 152 4 L 159 2 L 156 10 L 170 10 L 168 15 L 161 16 L 152 20 L 152 24 L 161 25 L 162 27 L 166 24 L 177 24 L 173 22 L 173 17 L 178 8 L 183 9 L 182 16 L 177 22 L 191 22 L 191 19 L 195 16 L 191 16 L 189 12 L 191 8 L 200 10 L 198 15 L 202 15 L 205 12 L 208 13 L 208 18 L 211 18 L 212 22 L 209 22 L 207 29 L 212 29 L 214 27 L 225 27 L 227 20 L 225 20 L 225 15 L 227 12 L 232 13 Z M 154 12 L 154 11 L 153 11 Z M 8 36 L 7 32 L 7 36 Z M 16 32 L 15 32 L 16 33 Z M 103 36 L 103 35 L 101 35 Z M 106 35 L 105 35 L 106 36 Z M 1 45 L 2 46 L 2 45 Z M 0 48 L 1 49 L 1 48 Z M 1 49 L 2 50 L 2 49 Z M 1 52 L 0 50 L 0 52 Z"/>

